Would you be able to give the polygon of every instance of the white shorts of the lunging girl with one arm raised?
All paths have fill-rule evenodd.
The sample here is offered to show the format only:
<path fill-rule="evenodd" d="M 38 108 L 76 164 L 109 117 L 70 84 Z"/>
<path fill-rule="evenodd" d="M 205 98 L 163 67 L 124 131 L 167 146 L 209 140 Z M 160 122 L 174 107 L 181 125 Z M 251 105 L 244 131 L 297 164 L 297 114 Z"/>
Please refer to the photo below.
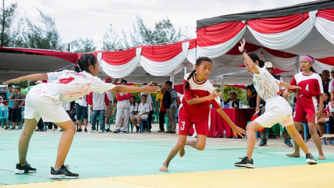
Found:
<path fill-rule="evenodd" d="M 293 125 L 292 108 L 281 96 L 268 99 L 266 100 L 266 112 L 255 121 L 267 128 L 277 123 L 281 123 L 283 127 Z"/>

